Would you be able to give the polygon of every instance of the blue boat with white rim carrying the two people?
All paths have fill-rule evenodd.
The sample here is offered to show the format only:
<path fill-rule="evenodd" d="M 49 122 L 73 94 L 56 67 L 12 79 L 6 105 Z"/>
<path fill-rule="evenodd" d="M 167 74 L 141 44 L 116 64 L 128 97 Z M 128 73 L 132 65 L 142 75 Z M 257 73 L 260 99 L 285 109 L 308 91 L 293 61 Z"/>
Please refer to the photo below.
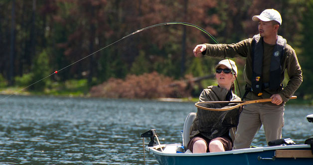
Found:
<path fill-rule="evenodd" d="M 188 128 L 194 118 L 195 113 L 187 116 L 184 135 L 189 134 Z M 308 115 L 307 120 L 313 123 L 313 114 Z M 148 146 L 144 142 L 144 151 L 152 153 L 160 165 L 313 165 L 313 138 L 307 139 L 303 145 L 296 145 L 291 139 L 279 139 L 269 142 L 269 147 L 193 154 L 184 150 L 189 141 L 188 136 L 182 136 L 182 144 L 168 145 L 159 143 L 155 129 L 141 137 L 150 137 Z"/>

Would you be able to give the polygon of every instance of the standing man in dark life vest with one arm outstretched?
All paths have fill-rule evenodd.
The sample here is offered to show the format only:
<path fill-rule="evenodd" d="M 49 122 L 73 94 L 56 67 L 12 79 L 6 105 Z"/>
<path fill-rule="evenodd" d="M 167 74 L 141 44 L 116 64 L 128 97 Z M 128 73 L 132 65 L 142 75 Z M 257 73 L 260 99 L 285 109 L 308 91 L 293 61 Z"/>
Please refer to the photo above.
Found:
<path fill-rule="evenodd" d="M 246 57 L 242 99 L 272 98 L 272 102 L 245 105 L 239 117 L 234 150 L 249 148 L 254 136 L 264 126 L 266 141 L 282 138 L 284 106 L 302 83 L 302 70 L 295 50 L 278 35 L 282 17 L 275 9 L 266 9 L 252 20 L 259 22 L 259 34 L 234 44 L 200 44 L 195 56 Z M 285 70 L 289 81 L 282 84 Z"/>

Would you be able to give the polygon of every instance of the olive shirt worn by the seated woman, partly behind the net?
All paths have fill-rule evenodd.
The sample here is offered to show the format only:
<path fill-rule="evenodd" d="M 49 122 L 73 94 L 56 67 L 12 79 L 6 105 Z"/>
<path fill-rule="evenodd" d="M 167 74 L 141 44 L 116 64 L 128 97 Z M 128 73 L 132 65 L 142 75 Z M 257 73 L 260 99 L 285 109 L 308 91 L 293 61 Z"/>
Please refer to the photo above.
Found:
<path fill-rule="evenodd" d="M 241 99 L 233 94 L 226 100 L 229 91 L 226 88 L 218 86 L 209 86 L 204 89 L 199 97 L 199 102 L 206 101 L 241 101 Z M 207 108 L 222 108 L 224 104 L 208 104 Z M 208 139 L 214 139 L 221 136 L 229 136 L 235 139 L 235 131 L 239 121 L 239 108 L 228 111 L 208 111 L 198 108 L 197 116 L 190 128 L 190 138 L 202 136 Z"/>

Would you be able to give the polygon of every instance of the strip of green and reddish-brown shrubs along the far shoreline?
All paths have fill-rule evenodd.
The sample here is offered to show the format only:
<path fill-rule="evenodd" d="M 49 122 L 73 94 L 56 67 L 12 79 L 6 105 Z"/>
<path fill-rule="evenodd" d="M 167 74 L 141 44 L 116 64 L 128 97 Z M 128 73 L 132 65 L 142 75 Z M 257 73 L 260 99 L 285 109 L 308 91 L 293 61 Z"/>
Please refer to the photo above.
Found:
<path fill-rule="evenodd" d="M 110 78 L 108 81 L 88 87 L 87 80 L 69 80 L 64 83 L 53 82 L 49 88 L 33 90 L 30 87 L 2 87 L 0 95 L 47 95 L 61 97 L 149 99 L 164 102 L 197 102 L 202 84 L 214 75 L 203 77 L 185 76 L 174 80 L 157 72 L 142 75 L 129 75 L 125 79 Z M 204 80 L 205 83 L 201 83 Z M 215 83 L 215 82 L 213 82 Z M 212 84 L 212 82 L 210 83 Z M 212 84 L 214 85 L 214 84 Z M 205 86 L 204 86 L 205 87 Z M 287 104 L 313 105 L 312 100 L 294 99 Z"/>

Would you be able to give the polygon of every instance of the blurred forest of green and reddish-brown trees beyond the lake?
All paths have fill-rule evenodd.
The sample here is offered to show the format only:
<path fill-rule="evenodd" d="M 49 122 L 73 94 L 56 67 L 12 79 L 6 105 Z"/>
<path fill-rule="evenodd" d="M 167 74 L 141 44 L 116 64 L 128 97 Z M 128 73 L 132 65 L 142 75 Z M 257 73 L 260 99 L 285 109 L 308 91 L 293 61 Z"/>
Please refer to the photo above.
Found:
<path fill-rule="evenodd" d="M 204 32 L 164 25 L 106 46 L 170 21 L 236 43 L 258 33 L 253 15 L 275 8 L 283 19 L 279 35 L 303 70 L 295 95 L 313 103 L 313 0 L 1 0 L 0 8 L 1 94 L 196 98 L 216 84 L 220 60 L 193 56 L 195 45 L 215 43 Z M 243 95 L 245 59 L 233 60 Z"/>

